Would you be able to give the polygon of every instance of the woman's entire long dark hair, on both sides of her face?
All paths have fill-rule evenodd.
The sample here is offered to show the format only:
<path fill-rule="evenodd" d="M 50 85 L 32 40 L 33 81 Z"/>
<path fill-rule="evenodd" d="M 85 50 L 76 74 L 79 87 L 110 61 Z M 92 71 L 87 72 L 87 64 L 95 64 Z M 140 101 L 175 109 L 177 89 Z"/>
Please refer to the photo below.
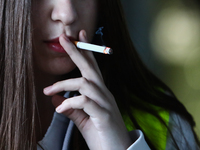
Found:
<path fill-rule="evenodd" d="M 99 25 L 105 27 L 104 40 L 114 49 L 114 54 L 97 54 L 96 58 L 105 83 L 115 96 L 122 114 L 128 115 L 133 125 L 141 130 L 132 113 L 133 108 L 152 114 L 164 124 L 157 111 L 144 105 L 151 104 L 180 114 L 194 127 L 195 123 L 185 107 L 141 62 L 126 28 L 120 0 L 100 0 L 100 7 Z M 1 150 L 36 149 L 37 113 L 31 32 L 31 0 L 1 0 Z M 159 89 L 169 92 L 170 96 Z M 156 149 L 149 139 L 146 136 L 151 149 Z"/>

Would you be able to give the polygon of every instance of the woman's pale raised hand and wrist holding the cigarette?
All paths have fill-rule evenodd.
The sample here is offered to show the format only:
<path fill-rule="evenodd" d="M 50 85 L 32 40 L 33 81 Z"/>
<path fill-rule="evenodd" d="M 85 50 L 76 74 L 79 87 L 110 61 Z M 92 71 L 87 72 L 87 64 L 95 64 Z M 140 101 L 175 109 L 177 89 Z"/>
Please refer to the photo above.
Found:
<path fill-rule="evenodd" d="M 79 40 L 87 42 L 84 30 L 80 31 Z M 76 124 L 91 150 L 127 149 L 131 145 L 128 131 L 92 52 L 77 50 L 65 35 L 61 35 L 60 44 L 82 77 L 59 81 L 44 89 L 44 93 L 53 96 L 54 105 L 59 105 L 56 111 Z M 81 95 L 64 99 L 56 95 L 62 91 L 79 91 Z"/>

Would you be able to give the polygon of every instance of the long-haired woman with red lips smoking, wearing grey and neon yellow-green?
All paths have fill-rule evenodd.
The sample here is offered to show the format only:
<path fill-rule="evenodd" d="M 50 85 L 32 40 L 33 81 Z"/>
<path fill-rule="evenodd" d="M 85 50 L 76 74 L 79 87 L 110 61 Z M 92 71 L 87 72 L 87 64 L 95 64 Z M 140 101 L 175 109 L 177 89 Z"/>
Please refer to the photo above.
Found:
<path fill-rule="evenodd" d="M 1 0 L 0 10 L 2 150 L 198 149 L 191 115 L 139 59 L 119 0 Z M 101 26 L 112 56 L 74 46 L 97 43 Z"/>

